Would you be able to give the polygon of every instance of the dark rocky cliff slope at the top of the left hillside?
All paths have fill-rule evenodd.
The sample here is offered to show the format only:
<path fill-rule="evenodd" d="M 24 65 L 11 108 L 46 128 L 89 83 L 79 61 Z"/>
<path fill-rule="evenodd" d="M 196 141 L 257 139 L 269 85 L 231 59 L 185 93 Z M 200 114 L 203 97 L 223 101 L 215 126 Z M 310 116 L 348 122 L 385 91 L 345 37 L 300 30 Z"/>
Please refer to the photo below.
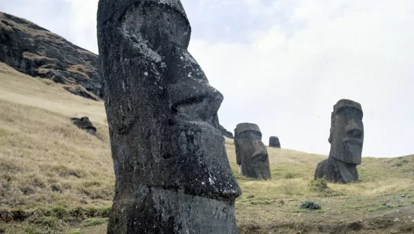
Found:
<path fill-rule="evenodd" d="M 78 93 L 83 97 L 102 97 L 97 55 L 26 19 L 3 12 L 0 61 L 33 77 L 52 79 L 69 87 L 81 86 L 83 90 Z"/>

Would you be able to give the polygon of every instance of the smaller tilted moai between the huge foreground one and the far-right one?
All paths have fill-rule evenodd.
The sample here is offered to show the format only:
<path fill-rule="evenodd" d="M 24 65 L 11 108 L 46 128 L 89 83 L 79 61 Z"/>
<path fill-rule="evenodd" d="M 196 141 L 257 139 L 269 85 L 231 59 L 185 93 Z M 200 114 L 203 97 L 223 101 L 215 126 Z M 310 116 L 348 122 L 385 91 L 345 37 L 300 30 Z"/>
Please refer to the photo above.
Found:
<path fill-rule="evenodd" d="M 237 124 L 235 147 L 239 173 L 255 179 L 270 179 L 269 157 L 257 124 Z"/>

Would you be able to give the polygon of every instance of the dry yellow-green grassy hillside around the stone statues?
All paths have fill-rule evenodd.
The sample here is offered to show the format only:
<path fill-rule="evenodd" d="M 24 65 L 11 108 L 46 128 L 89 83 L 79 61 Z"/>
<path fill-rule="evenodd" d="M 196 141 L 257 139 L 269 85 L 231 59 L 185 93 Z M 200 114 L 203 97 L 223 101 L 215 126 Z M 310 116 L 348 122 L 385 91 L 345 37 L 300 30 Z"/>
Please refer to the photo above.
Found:
<path fill-rule="evenodd" d="M 101 139 L 69 120 L 85 115 Z M 311 179 L 326 156 L 268 148 L 263 182 L 237 175 L 233 140 L 226 149 L 241 233 L 414 232 L 413 155 L 364 157 L 361 181 L 325 186 Z M 0 233 L 105 233 L 114 180 L 103 103 L 0 64 Z M 300 209 L 306 200 L 322 208 Z"/>

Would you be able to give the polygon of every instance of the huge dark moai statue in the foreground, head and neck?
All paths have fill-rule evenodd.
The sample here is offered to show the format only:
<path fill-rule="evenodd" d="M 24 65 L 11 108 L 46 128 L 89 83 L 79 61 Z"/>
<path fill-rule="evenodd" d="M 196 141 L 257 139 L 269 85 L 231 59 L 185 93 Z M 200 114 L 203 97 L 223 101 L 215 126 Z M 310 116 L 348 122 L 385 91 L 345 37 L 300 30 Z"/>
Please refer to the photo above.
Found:
<path fill-rule="evenodd" d="M 181 2 L 100 0 L 97 32 L 116 176 L 107 233 L 238 233 L 223 96 L 187 50 Z"/>

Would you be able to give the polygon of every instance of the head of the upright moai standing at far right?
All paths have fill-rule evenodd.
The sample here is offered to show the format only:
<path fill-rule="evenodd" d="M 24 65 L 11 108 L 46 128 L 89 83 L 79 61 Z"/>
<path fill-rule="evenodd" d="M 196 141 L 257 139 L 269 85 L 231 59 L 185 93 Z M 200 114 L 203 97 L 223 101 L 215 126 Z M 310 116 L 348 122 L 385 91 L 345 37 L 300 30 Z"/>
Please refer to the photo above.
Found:
<path fill-rule="evenodd" d="M 333 106 L 328 139 L 331 143 L 329 157 L 347 164 L 361 164 L 364 144 L 362 117 L 361 104 L 355 101 L 341 99 Z"/>

